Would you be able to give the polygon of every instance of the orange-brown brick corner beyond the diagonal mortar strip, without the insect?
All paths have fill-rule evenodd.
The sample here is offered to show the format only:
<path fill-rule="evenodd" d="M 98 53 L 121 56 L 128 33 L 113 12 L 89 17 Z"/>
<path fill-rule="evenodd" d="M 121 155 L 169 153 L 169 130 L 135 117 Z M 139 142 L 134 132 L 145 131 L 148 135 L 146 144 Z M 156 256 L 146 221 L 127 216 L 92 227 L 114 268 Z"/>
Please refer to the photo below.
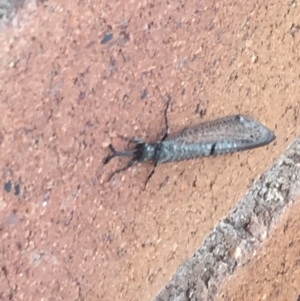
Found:
<path fill-rule="evenodd" d="M 285 212 L 249 265 L 224 283 L 217 301 L 300 300 L 299 201 Z"/>

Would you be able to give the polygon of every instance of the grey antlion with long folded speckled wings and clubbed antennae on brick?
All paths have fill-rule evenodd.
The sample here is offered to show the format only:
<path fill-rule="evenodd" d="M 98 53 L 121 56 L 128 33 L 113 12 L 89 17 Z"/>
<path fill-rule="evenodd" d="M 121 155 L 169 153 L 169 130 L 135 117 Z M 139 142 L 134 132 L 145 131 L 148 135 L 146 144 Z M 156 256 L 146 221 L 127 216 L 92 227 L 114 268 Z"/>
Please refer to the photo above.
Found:
<path fill-rule="evenodd" d="M 167 132 L 161 140 L 148 143 L 138 138 L 125 138 L 135 143 L 135 147 L 124 151 L 117 151 L 112 145 L 109 145 L 112 154 L 105 158 L 104 164 L 114 157 L 132 157 L 128 165 L 114 171 L 109 180 L 115 174 L 138 162 L 150 160 L 154 163 L 155 169 L 161 163 L 216 156 L 261 147 L 276 138 L 267 127 L 245 115 L 232 115 L 200 123 L 169 135 L 167 109 L 168 106 L 165 111 Z M 153 175 L 154 169 L 148 176 L 147 182 Z"/>

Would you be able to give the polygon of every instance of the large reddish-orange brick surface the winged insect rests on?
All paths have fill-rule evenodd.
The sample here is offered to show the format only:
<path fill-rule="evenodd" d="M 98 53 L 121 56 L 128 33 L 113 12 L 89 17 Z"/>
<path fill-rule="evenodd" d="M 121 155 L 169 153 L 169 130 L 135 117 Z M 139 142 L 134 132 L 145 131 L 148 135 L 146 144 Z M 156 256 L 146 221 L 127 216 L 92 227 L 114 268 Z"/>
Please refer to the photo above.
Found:
<path fill-rule="evenodd" d="M 155 298 L 300 134 L 299 13 L 297 1 L 24 1 L 0 29 L 0 298 Z M 150 164 L 107 182 L 127 162 L 104 166 L 108 145 L 159 139 L 167 96 L 171 131 L 243 113 L 277 140 L 159 166 L 146 190 Z"/>

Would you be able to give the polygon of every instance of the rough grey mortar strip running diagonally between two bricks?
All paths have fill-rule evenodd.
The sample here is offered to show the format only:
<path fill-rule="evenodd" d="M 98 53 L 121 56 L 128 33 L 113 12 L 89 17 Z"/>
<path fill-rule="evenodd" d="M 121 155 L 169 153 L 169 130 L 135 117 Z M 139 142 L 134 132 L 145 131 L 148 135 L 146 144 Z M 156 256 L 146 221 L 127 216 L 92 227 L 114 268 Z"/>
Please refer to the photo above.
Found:
<path fill-rule="evenodd" d="M 176 272 L 155 301 L 213 300 L 221 283 L 247 264 L 300 191 L 300 138 L 248 191 Z"/>

